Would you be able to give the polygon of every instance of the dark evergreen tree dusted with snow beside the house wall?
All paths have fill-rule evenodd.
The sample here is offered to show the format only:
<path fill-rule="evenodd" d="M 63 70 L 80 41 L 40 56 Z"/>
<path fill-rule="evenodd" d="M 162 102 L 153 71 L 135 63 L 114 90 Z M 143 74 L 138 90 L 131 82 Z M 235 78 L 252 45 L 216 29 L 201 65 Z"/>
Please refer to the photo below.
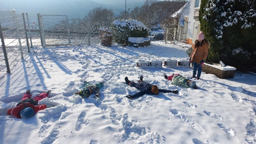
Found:
<path fill-rule="evenodd" d="M 199 21 L 210 42 L 210 61 L 239 70 L 255 66 L 255 0 L 202 0 Z"/>

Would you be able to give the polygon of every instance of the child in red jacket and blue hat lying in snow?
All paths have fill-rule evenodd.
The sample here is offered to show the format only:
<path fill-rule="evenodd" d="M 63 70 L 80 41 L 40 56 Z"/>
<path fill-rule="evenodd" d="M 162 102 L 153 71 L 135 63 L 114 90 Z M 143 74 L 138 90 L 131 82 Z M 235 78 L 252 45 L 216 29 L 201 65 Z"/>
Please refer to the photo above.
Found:
<path fill-rule="evenodd" d="M 39 106 L 37 106 L 37 104 L 38 101 L 44 99 L 49 94 L 51 94 L 51 90 L 48 90 L 46 93 L 41 93 L 39 96 L 36 96 L 34 97 L 34 99 L 31 99 L 32 95 L 30 93 L 30 90 L 28 89 L 26 91 L 26 94 L 23 95 L 21 102 L 18 103 L 15 108 L 8 109 L 7 114 L 12 114 L 18 119 L 28 119 L 39 110 L 47 108 L 45 104 L 41 104 Z"/>

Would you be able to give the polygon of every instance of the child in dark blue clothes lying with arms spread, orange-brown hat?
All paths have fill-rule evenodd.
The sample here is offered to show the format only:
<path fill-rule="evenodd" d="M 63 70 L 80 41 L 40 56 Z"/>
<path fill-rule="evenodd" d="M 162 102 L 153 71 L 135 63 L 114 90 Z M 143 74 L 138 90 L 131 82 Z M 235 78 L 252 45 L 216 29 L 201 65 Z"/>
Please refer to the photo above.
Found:
<path fill-rule="evenodd" d="M 178 90 L 165 90 L 165 89 L 159 89 L 157 88 L 156 85 L 152 85 L 150 83 L 146 83 L 143 81 L 143 76 L 139 78 L 139 83 L 131 82 L 128 80 L 128 77 L 125 77 L 125 82 L 128 84 L 130 87 L 135 87 L 136 89 L 139 90 L 138 93 L 134 95 L 126 95 L 128 99 L 132 99 L 135 97 L 143 96 L 144 94 L 149 94 L 149 95 L 158 95 L 159 92 L 161 93 L 178 93 Z"/>

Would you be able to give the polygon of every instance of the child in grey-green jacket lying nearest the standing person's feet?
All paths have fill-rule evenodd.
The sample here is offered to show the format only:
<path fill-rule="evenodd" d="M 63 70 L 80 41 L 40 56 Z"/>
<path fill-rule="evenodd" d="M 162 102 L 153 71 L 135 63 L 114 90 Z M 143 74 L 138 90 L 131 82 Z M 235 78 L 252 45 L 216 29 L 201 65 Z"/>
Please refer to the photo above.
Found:
<path fill-rule="evenodd" d="M 197 84 L 195 81 L 192 81 L 185 76 L 182 76 L 180 74 L 172 74 L 170 76 L 167 76 L 166 73 L 163 73 L 164 78 L 166 78 L 169 81 L 172 81 L 172 84 L 176 86 L 182 86 L 185 88 L 194 88 L 197 89 Z"/>

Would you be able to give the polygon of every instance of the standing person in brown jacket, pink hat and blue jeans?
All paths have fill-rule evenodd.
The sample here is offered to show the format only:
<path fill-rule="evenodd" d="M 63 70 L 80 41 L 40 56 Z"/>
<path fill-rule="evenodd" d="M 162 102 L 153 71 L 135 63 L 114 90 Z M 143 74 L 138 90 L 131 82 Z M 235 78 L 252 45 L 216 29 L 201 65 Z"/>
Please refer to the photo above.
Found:
<path fill-rule="evenodd" d="M 197 40 L 194 43 L 194 48 L 190 55 L 190 62 L 193 62 L 192 77 L 196 78 L 197 74 L 197 80 L 199 80 L 202 73 L 202 66 L 208 56 L 210 44 L 204 39 L 203 31 L 197 35 Z"/>

